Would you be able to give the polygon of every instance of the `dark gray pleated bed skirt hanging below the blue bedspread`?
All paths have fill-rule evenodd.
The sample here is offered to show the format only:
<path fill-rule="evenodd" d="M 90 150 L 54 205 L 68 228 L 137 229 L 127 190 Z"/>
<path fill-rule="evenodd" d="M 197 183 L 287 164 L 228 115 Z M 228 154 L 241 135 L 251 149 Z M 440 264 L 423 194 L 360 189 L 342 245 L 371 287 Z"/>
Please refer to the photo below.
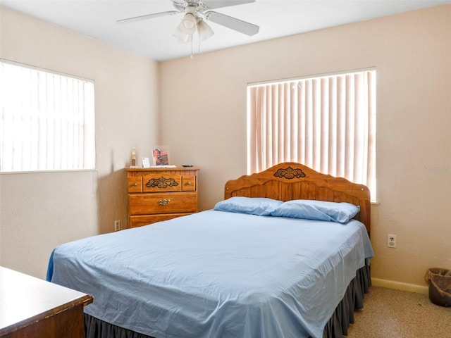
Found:
<path fill-rule="evenodd" d="M 323 338 L 341 338 L 347 335 L 347 327 L 354 323 L 354 311 L 363 308 L 364 294 L 371 286 L 369 259 L 366 265 L 357 270 L 356 277 L 347 286 L 345 296 L 324 327 Z M 86 338 L 154 338 L 146 334 L 124 329 L 85 313 Z"/>

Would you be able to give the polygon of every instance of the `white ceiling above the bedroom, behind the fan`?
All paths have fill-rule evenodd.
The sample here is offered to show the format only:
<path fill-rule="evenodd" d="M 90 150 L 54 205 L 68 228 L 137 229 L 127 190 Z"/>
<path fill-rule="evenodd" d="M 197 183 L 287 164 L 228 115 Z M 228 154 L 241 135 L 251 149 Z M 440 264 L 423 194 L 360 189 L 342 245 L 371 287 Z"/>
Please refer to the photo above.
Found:
<path fill-rule="evenodd" d="M 450 3 L 451 0 L 257 0 L 215 10 L 259 25 L 257 35 L 249 37 L 209 22 L 215 35 L 200 42 L 200 46 L 194 43 L 194 54 L 199 48 L 204 53 Z M 182 14 L 116 23 L 123 18 L 173 11 L 170 0 L 0 0 L 0 4 L 156 61 L 191 54 L 190 43 L 179 44 L 172 36 Z"/>

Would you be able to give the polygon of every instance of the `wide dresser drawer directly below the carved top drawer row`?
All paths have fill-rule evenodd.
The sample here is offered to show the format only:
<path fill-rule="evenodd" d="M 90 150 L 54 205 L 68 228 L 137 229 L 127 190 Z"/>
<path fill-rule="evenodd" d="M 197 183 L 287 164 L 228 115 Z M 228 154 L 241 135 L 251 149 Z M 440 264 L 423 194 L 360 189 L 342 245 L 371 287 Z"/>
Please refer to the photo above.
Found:
<path fill-rule="evenodd" d="M 196 213 L 197 193 L 130 194 L 128 206 L 130 215 Z"/>

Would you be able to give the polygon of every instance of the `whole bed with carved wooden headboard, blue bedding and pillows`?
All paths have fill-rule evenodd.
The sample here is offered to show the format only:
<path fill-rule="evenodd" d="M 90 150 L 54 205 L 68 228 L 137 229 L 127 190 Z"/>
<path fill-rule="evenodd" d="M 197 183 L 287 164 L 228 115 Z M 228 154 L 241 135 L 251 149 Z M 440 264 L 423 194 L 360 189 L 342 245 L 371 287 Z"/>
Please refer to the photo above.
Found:
<path fill-rule="evenodd" d="M 94 296 L 89 338 L 342 337 L 371 284 L 370 206 L 280 163 L 212 210 L 56 247 L 47 280 Z"/>

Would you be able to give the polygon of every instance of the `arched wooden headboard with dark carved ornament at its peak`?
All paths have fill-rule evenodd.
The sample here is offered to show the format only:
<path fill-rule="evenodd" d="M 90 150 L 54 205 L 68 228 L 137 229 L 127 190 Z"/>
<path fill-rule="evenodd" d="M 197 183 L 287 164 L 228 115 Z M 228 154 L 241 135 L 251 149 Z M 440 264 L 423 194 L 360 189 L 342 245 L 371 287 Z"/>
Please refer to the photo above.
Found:
<path fill-rule="evenodd" d="M 226 183 L 224 198 L 232 196 L 267 197 L 280 201 L 316 199 L 319 201 L 348 202 L 360 206 L 354 217 L 371 230 L 371 200 L 368 187 L 352 183 L 342 177 L 324 175 L 311 168 L 285 162 L 262 171 L 244 175 Z"/>

